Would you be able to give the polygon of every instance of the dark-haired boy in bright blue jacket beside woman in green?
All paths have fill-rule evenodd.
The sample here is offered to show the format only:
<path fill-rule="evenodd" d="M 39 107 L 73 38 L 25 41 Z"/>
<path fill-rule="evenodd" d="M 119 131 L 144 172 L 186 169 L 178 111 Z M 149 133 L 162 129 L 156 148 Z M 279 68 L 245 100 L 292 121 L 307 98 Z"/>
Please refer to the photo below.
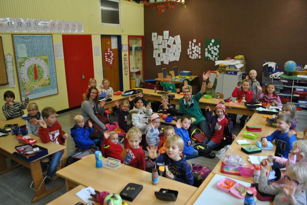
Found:
<path fill-rule="evenodd" d="M 176 134 L 179 135 L 183 141 L 185 142 L 185 146 L 183 148 L 183 156 L 185 159 L 191 159 L 198 156 L 198 151 L 194 149 L 192 146 L 192 140 L 189 137 L 188 128 L 191 125 L 192 119 L 188 115 L 181 116 L 181 122 L 176 123 L 175 131 Z"/>

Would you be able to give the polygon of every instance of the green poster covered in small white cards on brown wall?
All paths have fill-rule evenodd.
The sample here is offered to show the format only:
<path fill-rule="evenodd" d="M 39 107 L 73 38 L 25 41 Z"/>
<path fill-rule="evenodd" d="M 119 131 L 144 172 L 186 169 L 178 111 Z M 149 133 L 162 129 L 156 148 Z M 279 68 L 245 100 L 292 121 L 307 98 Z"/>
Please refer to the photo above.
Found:
<path fill-rule="evenodd" d="M 220 39 L 206 39 L 205 60 L 220 60 Z"/>

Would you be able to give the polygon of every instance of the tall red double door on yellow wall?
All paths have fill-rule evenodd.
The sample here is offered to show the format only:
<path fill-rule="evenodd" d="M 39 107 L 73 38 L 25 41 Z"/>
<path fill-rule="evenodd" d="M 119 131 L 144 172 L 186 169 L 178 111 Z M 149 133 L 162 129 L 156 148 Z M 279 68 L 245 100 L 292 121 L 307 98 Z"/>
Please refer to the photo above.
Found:
<path fill-rule="evenodd" d="M 91 35 L 63 35 L 69 108 L 81 105 L 90 78 L 94 78 Z M 84 75 L 84 80 L 82 80 Z"/>

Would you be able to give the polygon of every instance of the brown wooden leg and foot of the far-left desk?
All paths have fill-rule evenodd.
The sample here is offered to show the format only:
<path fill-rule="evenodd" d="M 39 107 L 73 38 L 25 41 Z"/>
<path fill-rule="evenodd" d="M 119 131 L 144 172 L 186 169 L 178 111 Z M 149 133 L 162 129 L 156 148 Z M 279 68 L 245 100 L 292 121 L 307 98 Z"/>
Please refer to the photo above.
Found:
<path fill-rule="evenodd" d="M 37 190 L 43 181 L 43 173 L 41 171 L 41 162 L 36 160 L 30 163 L 30 170 L 32 174 L 34 188 Z M 45 196 L 49 195 L 50 193 L 56 191 L 59 188 L 62 188 L 63 185 L 59 185 L 55 188 L 49 189 L 46 191 L 45 183 L 41 185 L 41 188 L 35 192 L 35 197 L 32 199 L 32 203 L 37 202 L 38 200 L 44 198 Z"/>

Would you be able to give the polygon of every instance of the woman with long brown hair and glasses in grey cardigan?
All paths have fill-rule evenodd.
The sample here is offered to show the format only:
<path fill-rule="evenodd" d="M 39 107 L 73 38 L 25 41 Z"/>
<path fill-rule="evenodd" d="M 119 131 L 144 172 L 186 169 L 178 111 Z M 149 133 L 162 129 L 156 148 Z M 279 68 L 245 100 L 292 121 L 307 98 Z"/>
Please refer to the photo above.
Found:
<path fill-rule="evenodd" d="M 91 120 L 94 132 L 90 135 L 90 139 L 95 138 L 95 135 L 103 133 L 106 130 L 105 124 L 108 123 L 107 117 L 103 116 L 106 100 L 98 101 L 98 91 L 95 87 L 88 89 L 87 95 L 81 104 L 81 115 L 84 117 L 85 125 L 88 126 L 88 120 Z"/>

